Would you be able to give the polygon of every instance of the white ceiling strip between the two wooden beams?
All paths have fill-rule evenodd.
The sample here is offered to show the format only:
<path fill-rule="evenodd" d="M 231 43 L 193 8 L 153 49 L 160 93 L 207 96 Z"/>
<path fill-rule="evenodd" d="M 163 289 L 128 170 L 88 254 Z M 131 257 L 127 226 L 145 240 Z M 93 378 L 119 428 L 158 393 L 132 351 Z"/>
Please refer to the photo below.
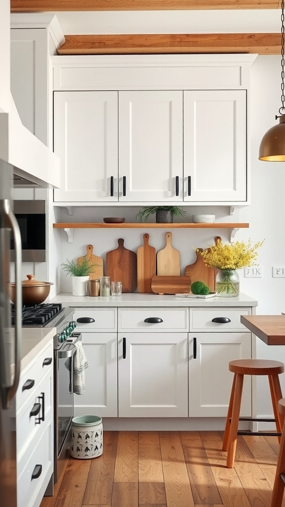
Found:
<path fill-rule="evenodd" d="M 50 13 L 51 14 L 51 13 Z M 279 32 L 278 9 L 213 11 L 55 12 L 63 33 Z"/>

